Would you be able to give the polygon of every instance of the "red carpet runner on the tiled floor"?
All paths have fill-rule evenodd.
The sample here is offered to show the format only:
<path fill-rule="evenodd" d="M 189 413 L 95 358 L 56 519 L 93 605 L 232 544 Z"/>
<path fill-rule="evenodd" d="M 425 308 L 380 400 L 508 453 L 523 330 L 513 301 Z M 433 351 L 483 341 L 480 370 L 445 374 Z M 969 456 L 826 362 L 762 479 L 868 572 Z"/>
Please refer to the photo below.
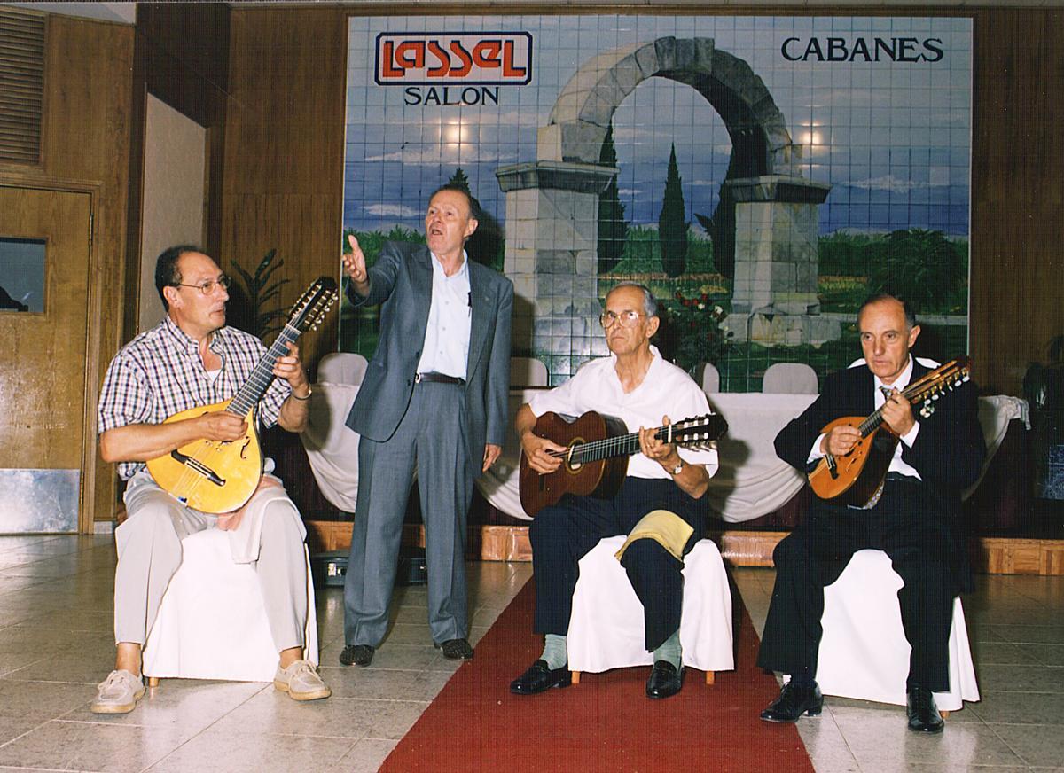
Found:
<path fill-rule="evenodd" d="M 736 670 L 706 686 L 688 670 L 665 701 L 644 694 L 649 668 L 584 674 L 581 684 L 512 695 L 510 682 L 543 649 L 532 634 L 530 581 L 421 718 L 383 771 L 812 771 L 793 725 L 758 719 L 778 694 L 754 665 L 758 636 L 741 605 Z"/>

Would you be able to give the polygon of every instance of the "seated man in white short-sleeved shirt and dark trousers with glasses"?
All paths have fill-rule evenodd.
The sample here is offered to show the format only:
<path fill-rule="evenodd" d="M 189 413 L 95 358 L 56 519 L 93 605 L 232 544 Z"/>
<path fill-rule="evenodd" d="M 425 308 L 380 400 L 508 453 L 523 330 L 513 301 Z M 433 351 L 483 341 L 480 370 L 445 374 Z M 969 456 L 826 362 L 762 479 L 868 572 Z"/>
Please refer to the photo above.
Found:
<path fill-rule="evenodd" d="M 705 505 L 699 499 L 717 467 L 715 449 L 681 449 L 670 442 L 675 438 L 668 416 L 705 415 L 709 403 L 691 376 L 666 363 L 650 345 L 661 321 L 650 290 L 634 283 L 617 285 L 606 297 L 600 319 L 612 356 L 584 364 L 565 384 L 536 394 L 518 410 L 515 423 L 522 464 L 543 476 L 544 489 L 573 477 L 560 470 L 563 464 L 572 467 L 569 458 L 563 463 L 567 448 L 561 442 L 565 439 L 555 442 L 537 434 L 543 432 L 544 419 L 560 421 L 548 411 L 571 416 L 598 411 L 620 419 L 628 432 L 638 432 L 631 438 L 630 450 L 614 459 L 620 464 L 619 474 L 606 471 L 603 476 L 613 477 L 618 491 L 596 491 L 608 499 L 564 493 L 556 504 L 535 515 L 529 530 L 536 589 L 534 627 L 546 635 L 546 643 L 543 656 L 511 683 L 510 690 L 533 694 L 570 684 L 566 634 L 578 561 L 603 537 L 631 534 L 643 521 L 639 535 L 654 532 L 653 538 L 632 535 L 620 562 L 643 603 L 646 648 L 653 652 L 647 695 L 668 698 L 680 691 L 683 677 L 681 556 L 704 536 Z M 655 427 L 659 420 L 666 426 Z M 628 453 L 635 455 L 629 459 Z M 559 480 L 551 480 L 556 471 Z M 521 501 L 530 493 L 522 481 Z"/>

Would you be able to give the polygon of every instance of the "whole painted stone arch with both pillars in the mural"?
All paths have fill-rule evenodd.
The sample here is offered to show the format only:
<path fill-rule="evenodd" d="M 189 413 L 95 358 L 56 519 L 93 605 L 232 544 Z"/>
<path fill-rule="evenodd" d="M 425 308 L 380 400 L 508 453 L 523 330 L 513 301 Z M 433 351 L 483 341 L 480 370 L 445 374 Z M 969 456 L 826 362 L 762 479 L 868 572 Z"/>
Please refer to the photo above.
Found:
<path fill-rule="evenodd" d="M 504 270 L 517 296 L 515 350 L 544 359 L 552 384 L 587 357 L 608 353 L 596 321 L 598 201 L 618 169 L 598 159 L 614 112 L 649 78 L 697 89 L 731 136 L 714 249 L 733 267 L 725 273 L 733 279 L 736 339 L 837 338 L 838 323 L 825 324 L 817 300 L 817 207 L 830 186 L 802 179 L 800 146 L 792 144 L 783 115 L 746 62 L 717 50 L 712 38 L 661 37 L 588 58 L 539 129 L 536 161 L 495 172 L 506 199 Z"/>

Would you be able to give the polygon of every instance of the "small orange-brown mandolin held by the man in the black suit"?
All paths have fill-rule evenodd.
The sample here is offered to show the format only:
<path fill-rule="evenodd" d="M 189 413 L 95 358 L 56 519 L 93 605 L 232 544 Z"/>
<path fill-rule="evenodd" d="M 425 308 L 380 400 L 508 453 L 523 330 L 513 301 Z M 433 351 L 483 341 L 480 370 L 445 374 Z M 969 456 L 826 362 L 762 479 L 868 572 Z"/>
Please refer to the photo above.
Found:
<path fill-rule="evenodd" d="M 910 403 L 922 403 L 919 413 L 925 418 L 934 411 L 934 402 L 947 391 L 968 381 L 971 360 L 958 357 L 925 374 L 901 390 Z M 881 408 L 866 419 L 846 416 L 835 419 L 820 432 L 827 434 L 836 426 L 853 426 L 861 439 L 845 456 L 828 454 L 809 473 L 813 492 L 836 504 L 869 507 L 883 491 L 883 480 L 898 446 L 898 435 L 883 423 Z"/>

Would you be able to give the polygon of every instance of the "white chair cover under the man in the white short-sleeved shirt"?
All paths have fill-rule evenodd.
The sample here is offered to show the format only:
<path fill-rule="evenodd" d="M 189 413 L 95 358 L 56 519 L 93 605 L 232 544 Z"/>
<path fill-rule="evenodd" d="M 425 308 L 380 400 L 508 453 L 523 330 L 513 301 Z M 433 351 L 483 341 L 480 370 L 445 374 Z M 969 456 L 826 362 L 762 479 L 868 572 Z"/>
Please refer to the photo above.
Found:
<path fill-rule="evenodd" d="M 606 537 L 580 559 L 567 640 L 572 671 L 652 663 L 645 649 L 643 605 L 614 557 L 624 543 L 624 536 Z M 683 579 L 683 663 L 700 671 L 734 669 L 731 590 L 716 544 L 703 539 L 695 545 L 685 556 Z"/>

